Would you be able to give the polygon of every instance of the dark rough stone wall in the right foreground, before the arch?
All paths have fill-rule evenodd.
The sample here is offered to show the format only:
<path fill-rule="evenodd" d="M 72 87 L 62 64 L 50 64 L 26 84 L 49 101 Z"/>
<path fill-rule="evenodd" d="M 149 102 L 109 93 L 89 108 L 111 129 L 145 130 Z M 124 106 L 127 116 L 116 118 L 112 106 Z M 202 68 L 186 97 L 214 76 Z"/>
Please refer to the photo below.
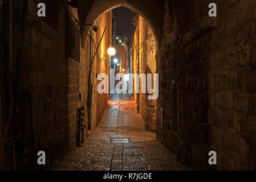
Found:
<path fill-rule="evenodd" d="M 255 1 L 213 2 L 217 18 L 194 1 L 186 20 L 166 1 L 157 138 L 193 168 L 255 169 Z"/>

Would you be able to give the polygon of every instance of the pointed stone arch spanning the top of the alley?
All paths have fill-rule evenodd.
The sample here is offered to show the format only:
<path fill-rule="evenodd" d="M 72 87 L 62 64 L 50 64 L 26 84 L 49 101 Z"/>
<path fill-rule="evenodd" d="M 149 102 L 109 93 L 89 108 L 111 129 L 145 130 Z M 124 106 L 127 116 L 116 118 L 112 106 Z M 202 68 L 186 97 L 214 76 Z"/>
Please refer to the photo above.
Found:
<path fill-rule="evenodd" d="M 91 21 L 95 22 L 99 16 L 107 11 L 115 9 L 116 7 L 124 6 L 132 11 L 143 16 L 145 20 L 151 26 L 156 38 L 156 47 L 159 49 L 162 36 L 162 23 L 164 13 L 161 9 L 164 7 L 164 2 L 157 2 L 154 0 L 95 0 L 95 1 L 83 1 L 78 0 L 78 14 L 79 20 L 82 23 L 90 24 Z M 90 15 L 90 17 L 88 17 Z M 92 19 L 92 20 L 91 20 Z M 88 32 L 91 27 L 87 26 Z M 82 46 L 86 41 L 86 32 L 82 30 Z"/>

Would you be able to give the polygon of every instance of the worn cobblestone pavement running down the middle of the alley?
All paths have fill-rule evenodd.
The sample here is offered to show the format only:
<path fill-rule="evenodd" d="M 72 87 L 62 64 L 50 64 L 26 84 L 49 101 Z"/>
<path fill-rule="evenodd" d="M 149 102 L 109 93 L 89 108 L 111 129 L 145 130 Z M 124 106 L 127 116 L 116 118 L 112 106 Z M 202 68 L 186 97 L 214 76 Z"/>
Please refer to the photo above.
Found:
<path fill-rule="evenodd" d="M 110 99 L 101 123 L 83 147 L 72 150 L 52 170 L 187 170 L 156 140 L 155 133 L 145 131 L 134 101 L 117 94 Z"/>

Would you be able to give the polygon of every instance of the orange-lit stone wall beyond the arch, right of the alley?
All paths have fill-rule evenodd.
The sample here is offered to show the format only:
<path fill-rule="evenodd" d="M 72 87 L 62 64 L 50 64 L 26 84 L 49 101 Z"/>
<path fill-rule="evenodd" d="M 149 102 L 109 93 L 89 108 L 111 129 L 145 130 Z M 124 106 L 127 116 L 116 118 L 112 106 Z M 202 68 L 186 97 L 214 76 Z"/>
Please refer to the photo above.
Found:
<path fill-rule="evenodd" d="M 152 86 L 154 73 L 156 73 L 156 40 L 155 35 L 147 21 L 142 16 L 138 16 L 138 24 L 136 32 L 133 35 L 133 73 L 138 73 L 138 57 L 139 57 L 139 74 L 152 73 Z M 139 46 L 138 46 L 139 34 Z M 139 48 L 138 48 L 139 47 Z M 139 56 L 138 56 L 139 53 Z M 137 102 L 137 94 L 135 101 Z M 156 131 L 156 100 L 148 100 L 148 92 L 141 93 L 140 78 L 140 94 L 139 94 L 139 111 L 145 121 L 145 128 L 148 131 Z"/>

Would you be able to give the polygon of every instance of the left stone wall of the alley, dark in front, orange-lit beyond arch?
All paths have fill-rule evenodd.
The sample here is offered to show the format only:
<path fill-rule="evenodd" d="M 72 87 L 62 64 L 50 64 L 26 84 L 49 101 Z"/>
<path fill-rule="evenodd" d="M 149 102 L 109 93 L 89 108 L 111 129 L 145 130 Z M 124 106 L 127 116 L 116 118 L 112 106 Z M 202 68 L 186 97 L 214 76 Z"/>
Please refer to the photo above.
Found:
<path fill-rule="evenodd" d="M 46 1 L 46 3 L 48 2 Z M 20 36 L 17 32 L 20 32 L 22 17 L 17 15 L 17 12 L 21 7 L 19 3 L 14 4 L 13 7 L 13 60 L 17 58 L 15 56 Z M 78 19 L 77 9 L 73 9 L 71 6 L 66 7 L 70 14 Z M 12 163 L 16 163 L 17 168 L 25 168 L 28 161 L 36 166 L 36 160 L 34 162 L 31 160 L 33 157 L 36 159 L 39 150 L 48 148 L 53 162 L 76 146 L 76 109 L 81 106 L 86 107 L 90 56 L 94 55 L 96 47 L 100 43 L 106 23 L 107 29 L 104 39 L 97 51 L 99 57 L 95 58 L 93 65 L 94 89 L 97 85 L 97 74 L 108 74 L 108 60 L 101 61 L 100 59 L 107 56 L 107 48 L 111 44 L 112 18 L 109 16 L 111 13 L 105 13 L 97 19 L 95 24 L 99 29 L 97 33 L 92 31 L 93 40 L 91 42 L 94 43 L 91 44 L 91 53 L 90 40 L 87 36 L 84 48 L 80 45 L 80 62 L 77 62 L 67 59 L 68 15 L 64 8 L 56 11 L 54 16 L 46 15 L 44 19 L 37 16 L 37 10 L 37 3 L 32 0 L 28 1 L 26 34 L 18 90 L 18 109 L 21 109 L 21 114 L 14 116 L 17 160 L 11 162 L 13 159 L 8 158 L 6 162 L 10 169 L 14 166 Z M 47 12 L 54 12 L 57 9 L 48 6 L 47 10 Z M 53 21 L 54 17 L 58 25 L 51 23 L 51 19 Z M 77 23 L 76 26 L 78 26 Z M 16 71 L 15 65 L 16 62 L 13 63 L 14 73 Z M 27 108 L 29 104 L 27 100 L 21 100 L 21 98 L 26 98 L 27 93 L 31 94 L 31 114 Z M 97 92 L 94 92 L 93 97 L 97 102 L 91 111 L 92 115 L 97 115 L 97 117 L 91 119 L 92 129 L 95 128 L 96 123 L 100 122 L 101 115 L 107 105 L 108 94 L 99 96 Z M 87 131 L 86 133 L 88 134 Z M 10 147 L 12 146 L 6 146 L 6 151 L 11 151 Z"/>

